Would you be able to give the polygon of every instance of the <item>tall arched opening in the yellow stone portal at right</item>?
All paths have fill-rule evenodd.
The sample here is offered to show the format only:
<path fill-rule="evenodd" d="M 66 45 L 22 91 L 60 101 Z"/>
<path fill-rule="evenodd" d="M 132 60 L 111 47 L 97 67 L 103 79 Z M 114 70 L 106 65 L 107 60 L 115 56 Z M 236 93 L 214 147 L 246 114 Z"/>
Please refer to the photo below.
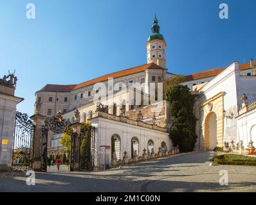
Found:
<path fill-rule="evenodd" d="M 208 113 L 205 119 L 205 147 L 214 149 L 217 146 L 217 116 L 214 112 Z"/>

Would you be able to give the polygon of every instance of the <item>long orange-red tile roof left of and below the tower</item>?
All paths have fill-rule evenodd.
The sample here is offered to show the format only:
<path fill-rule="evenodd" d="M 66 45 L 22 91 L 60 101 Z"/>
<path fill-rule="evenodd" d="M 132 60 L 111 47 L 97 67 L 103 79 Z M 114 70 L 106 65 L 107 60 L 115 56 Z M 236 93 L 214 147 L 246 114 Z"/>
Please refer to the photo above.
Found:
<path fill-rule="evenodd" d="M 78 85 L 46 85 L 39 92 L 70 92 L 71 90 L 77 90 L 79 88 L 83 88 L 88 85 L 93 85 L 95 83 L 107 81 L 108 78 L 120 78 L 123 76 L 136 74 L 138 72 L 144 72 L 147 69 L 163 69 L 162 67 L 156 65 L 155 63 L 148 63 L 145 65 L 140 65 L 137 67 L 133 67 L 131 69 L 120 70 L 118 72 L 113 72 L 111 74 L 107 74 L 105 76 L 101 76 L 99 78 L 91 79 L 84 83 L 80 83 Z"/>

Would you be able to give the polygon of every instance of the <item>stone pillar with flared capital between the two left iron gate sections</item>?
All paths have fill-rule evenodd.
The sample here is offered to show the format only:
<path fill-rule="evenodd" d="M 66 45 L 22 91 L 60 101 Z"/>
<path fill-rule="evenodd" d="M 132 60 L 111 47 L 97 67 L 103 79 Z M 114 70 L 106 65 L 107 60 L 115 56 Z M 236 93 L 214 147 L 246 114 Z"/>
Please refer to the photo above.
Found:
<path fill-rule="evenodd" d="M 33 170 L 41 171 L 41 129 L 42 129 L 42 120 L 46 116 L 41 114 L 35 114 L 30 117 L 35 122 L 35 143 L 33 148 Z"/>

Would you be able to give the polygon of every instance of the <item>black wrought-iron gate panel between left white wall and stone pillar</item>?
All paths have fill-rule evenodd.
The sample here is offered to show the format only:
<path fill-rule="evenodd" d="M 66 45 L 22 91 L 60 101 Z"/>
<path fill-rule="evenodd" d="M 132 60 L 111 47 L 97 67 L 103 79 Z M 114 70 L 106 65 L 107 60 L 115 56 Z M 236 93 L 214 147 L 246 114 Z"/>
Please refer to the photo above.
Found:
<path fill-rule="evenodd" d="M 14 170 L 33 168 L 33 147 L 35 124 L 26 113 L 16 112 L 14 140 L 12 148 L 12 167 Z"/>

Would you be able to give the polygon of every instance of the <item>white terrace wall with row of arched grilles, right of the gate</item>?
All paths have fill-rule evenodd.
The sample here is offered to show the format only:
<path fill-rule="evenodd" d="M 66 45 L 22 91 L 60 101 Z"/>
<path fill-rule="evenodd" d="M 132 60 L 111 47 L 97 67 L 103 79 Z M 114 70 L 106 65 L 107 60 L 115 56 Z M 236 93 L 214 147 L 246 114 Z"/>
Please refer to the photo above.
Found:
<path fill-rule="evenodd" d="M 100 148 L 100 146 L 111 146 L 111 137 L 114 134 L 119 135 L 121 139 L 121 159 L 123 158 L 124 151 L 127 151 L 128 158 L 131 158 L 131 139 L 134 136 L 139 140 L 139 156 L 142 156 L 143 149 L 147 150 L 147 143 L 149 140 L 153 140 L 154 152 L 156 153 L 158 152 L 158 148 L 160 147 L 161 142 L 165 142 L 167 145 L 167 150 L 172 149 L 172 142 L 169 138 L 169 133 L 149 129 L 146 127 L 134 126 L 124 122 L 104 119 L 101 117 L 92 119 L 91 124 L 92 126 L 96 127 L 96 131 L 98 133 L 98 161 L 103 159 L 102 151 L 104 151 L 104 149 Z M 111 167 L 111 150 L 108 150 L 107 154 L 109 154 L 109 158 L 106 161 L 109 161 L 108 165 Z"/>

